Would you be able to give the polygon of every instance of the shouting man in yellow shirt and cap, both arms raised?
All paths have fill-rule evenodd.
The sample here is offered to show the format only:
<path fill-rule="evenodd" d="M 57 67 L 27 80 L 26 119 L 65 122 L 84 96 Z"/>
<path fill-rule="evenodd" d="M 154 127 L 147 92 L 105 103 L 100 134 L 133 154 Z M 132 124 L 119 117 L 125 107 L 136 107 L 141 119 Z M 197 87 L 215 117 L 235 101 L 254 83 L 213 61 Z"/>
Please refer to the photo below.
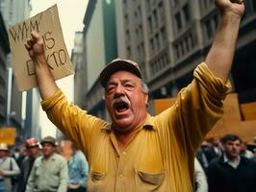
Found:
<path fill-rule="evenodd" d="M 99 76 L 112 123 L 67 102 L 33 31 L 25 43 L 34 62 L 42 108 L 82 149 L 90 165 L 88 191 L 192 191 L 194 155 L 223 113 L 243 0 L 216 0 L 220 12 L 213 46 L 172 108 L 147 113 L 148 89 L 139 64 L 116 59 Z"/>

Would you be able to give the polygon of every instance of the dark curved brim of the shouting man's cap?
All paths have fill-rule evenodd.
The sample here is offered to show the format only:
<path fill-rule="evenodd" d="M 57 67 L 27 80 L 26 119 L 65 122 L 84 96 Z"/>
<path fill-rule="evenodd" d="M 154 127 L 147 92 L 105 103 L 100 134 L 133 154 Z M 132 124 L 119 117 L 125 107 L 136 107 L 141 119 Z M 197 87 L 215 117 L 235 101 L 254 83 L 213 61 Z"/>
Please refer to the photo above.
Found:
<path fill-rule="evenodd" d="M 103 87 L 106 87 L 106 85 L 109 82 L 110 77 L 117 71 L 128 71 L 130 73 L 133 73 L 134 75 L 141 78 L 141 72 L 140 70 L 134 65 L 129 63 L 125 60 L 116 60 L 109 65 L 107 65 L 99 76 L 100 84 Z"/>

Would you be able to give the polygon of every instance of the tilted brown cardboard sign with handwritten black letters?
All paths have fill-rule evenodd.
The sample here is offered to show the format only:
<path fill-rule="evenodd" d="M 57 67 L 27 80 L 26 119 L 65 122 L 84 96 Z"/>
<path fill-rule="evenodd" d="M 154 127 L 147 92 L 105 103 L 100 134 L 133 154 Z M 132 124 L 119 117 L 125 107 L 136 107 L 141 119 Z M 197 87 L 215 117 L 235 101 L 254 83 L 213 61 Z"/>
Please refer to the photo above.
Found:
<path fill-rule="evenodd" d="M 24 46 L 31 32 L 42 36 L 47 64 L 55 80 L 73 74 L 64 44 L 57 5 L 13 26 L 8 31 L 16 83 L 20 91 L 37 86 L 34 63 Z"/>

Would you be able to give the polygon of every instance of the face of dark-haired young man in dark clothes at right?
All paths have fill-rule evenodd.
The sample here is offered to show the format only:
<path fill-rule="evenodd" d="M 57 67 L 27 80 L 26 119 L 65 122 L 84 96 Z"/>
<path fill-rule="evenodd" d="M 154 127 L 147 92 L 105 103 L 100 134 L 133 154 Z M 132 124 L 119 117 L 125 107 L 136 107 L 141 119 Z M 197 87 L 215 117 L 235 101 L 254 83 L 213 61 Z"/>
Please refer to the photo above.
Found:
<path fill-rule="evenodd" d="M 223 144 L 224 151 L 228 158 L 234 158 L 240 155 L 241 152 L 241 141 L 240 140 L 228 140 Z"/>

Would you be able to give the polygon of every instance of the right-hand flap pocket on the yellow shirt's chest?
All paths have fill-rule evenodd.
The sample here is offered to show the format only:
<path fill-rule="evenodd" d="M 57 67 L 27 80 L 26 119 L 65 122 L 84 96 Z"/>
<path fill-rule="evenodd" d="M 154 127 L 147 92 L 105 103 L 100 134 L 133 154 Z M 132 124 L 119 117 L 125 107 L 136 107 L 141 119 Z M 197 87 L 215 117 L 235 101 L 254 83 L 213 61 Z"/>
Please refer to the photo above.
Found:
<path fill-rule="evenodd" d="M 151 173 L 135 170 L 135 172 L 137 191 L 156 191 L 166 178 L 164 171 Z"/>

